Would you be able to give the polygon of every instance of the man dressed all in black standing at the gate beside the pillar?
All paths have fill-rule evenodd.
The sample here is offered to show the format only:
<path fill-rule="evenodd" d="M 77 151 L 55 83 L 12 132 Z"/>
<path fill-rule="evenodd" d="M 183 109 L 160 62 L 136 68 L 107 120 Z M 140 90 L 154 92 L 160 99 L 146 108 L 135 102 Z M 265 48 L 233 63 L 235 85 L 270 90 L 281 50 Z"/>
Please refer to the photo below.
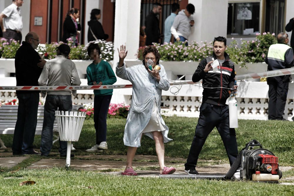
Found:
<path fill-rule="evenodd" d="M 159 20 L 157 15 L 161 13 L 162 5 L 160 3 L 154 3 L 153 9 L 145 19 L 145 32 L 146 32 L 146 46 L 152 45 L 152 43 L 159 43 Z"/>

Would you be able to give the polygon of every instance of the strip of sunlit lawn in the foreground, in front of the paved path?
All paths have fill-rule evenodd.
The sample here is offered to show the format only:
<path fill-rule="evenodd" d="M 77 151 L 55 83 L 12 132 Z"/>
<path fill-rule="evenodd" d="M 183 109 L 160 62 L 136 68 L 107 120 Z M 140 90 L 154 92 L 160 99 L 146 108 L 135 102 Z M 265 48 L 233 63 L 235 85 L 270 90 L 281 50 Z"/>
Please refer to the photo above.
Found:
<path fill-rule="evenodd" d="M 19 186 L 25 180 L 36 184 Z M 1 195 L 294 195 L 293 185 L 127 177 L 62 168 L 5 173 L 0 184 Z"/>

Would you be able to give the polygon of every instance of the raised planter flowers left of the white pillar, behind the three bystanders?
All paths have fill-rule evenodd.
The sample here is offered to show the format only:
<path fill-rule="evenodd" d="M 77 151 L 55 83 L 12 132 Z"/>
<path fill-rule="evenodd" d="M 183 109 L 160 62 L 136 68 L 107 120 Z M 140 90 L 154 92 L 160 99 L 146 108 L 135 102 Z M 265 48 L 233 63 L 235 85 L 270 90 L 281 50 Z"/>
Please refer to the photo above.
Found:
<path fill-rule="evenodd" d="M 62 44 L 63 42 L 52 42 L 46 44 L 39 44 L 36 51 L 38 51 L 41 55 L 43 55 L 44 59 L 52 59 L 56 57 L 56 47 Z M 101 59 L 104 61 L 113 60 L 113 43 L 104 41 L 104 40 L 96 40 L 89 42 L 85 45 L 75 46 L 74 42 L 71 38 L 68 39 L 68 45 L 71 47 L 71 52 L 69 54 L 69 58 L 72 60 L 88 60 L 90 57 L 87 53 L 87 48 L 90 43 L 98 43 L 101 48 Z M 5 38 L 0 39 L 0 55 L 1 58 L 14 58 L 17 49 L 21 46 L 21 44 L 15 40 L 8 41 Z"/>

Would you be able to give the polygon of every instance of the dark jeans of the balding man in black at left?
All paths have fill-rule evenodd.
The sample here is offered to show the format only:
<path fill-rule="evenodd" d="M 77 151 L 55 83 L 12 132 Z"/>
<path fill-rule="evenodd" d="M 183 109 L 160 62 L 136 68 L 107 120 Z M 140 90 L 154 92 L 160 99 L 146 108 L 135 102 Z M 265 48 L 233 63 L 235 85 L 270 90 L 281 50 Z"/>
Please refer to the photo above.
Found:
<path fill-rule="evenodd" d="M 19 93 L 17 98 L 19 106 L 12 143 L 14 155 L 33 152 L 40 94 Z"/>

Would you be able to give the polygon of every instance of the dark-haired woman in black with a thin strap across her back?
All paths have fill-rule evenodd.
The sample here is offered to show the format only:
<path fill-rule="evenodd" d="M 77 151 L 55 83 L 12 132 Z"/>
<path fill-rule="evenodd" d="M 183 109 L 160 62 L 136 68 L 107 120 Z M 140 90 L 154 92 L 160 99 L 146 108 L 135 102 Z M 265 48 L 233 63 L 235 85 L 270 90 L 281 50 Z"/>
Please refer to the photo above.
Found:
<path fill-rule="evenodd" d="M 104 33 L 102 24 L 98 21 L 101 19 L 100 9 L 92 9 L 90 19 L 88 21 L 88 42 L 98 39 L 108 39 L 108 35 Z"/>

